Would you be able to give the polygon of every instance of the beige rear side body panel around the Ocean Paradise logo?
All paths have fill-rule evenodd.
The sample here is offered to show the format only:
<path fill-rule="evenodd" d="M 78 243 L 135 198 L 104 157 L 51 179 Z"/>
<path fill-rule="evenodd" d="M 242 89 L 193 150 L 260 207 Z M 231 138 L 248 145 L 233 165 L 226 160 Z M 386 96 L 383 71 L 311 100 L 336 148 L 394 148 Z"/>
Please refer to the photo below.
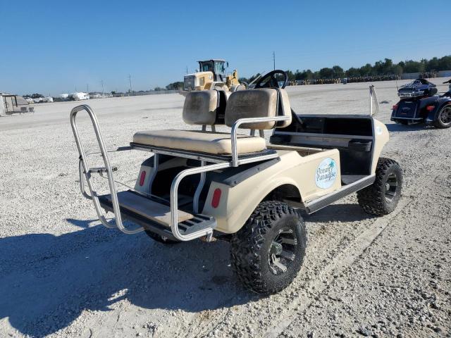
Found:
<path fill-rule="evenodd" d="M 321 151 L 309 156 L 300 156 L 297 151 L 279 151 L 280 162 L 249 177 L 235 187 L 211 182 L 202 213 L 212 215 L 218 221 L 216 230 L 234 233 L 240 230 L 262 199 L 273 189 L 283 184 L 296 187 L 301 201 L 309 201 L 340 189 L 340 154 L 338 150 Z M 316 172 L 326 158 L 336 163 L 336 177 L 327 189 L 316 185 Z M 216 189 L 221 189 L 221 199 L 216 208 L 211 205 Z"/>

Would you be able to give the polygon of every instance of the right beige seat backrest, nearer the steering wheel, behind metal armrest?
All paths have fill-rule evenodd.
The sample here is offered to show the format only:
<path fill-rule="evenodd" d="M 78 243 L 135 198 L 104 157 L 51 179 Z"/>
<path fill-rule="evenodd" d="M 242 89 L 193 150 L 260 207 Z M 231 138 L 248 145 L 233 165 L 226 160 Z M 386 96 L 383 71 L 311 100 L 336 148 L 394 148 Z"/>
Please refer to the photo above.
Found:
<path fill-rule="evenodd" d="M 290 99 L 285 89 L 262 88 L 233 92 L 226 106 L 226 125 L 232 125 L 240 118 L 266 118 L 288 116 L 285 121 L 244 123 L 240 128 L 268 130 L 286 127 L 291 123 Z"/>

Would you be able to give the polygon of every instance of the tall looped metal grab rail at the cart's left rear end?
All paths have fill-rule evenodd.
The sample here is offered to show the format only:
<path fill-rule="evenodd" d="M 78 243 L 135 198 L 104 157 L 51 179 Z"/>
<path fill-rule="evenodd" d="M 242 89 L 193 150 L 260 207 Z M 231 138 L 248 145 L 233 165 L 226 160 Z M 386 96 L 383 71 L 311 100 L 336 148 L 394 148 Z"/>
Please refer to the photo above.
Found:
<path fill-rule="evenodd" d="M 75 118 L 77 117 L 77 113 L 79 111 L 87 112 L 87 114 L 89 115 L 89 118 L 91 119 L 92 127 L 94 127 L 94 132 L 96 134 L 97 142 L 99 143 L 100 154 L 104 160 L 104 164 L 105 164 L 105 168 L 106 168 L 106 176 L 108 177 L 109 189 L 111 192 L 111 202 L 113 204 L 113 213 L 114 213 L 114 217 L 116 218 L 115 225 L 109 224 L 108 221 L 106 220 L 105 216 L 101 213 L 99 197 L 97 196 L 97 193 L 94 189 L 94 185 L 91 182 L 91 175 L 89 173 L 89 165 L 87 165 L 86 157 L 87 157 L 87 154 L 92 154 L 92 153 L 85 153 L 85 151 L 83 150 L 82 142 L 80 140 L 80 134 L 78 134 L 78 127 L 77 127 Z M 92 202 L 94 203 L 94 208 L 96 209 L 96 212 L 97 212 L 97 215 L 99 216 L 99 220 L 100 220 L 101 224 L 104 225 L 105 227 L 109 227 L 109 228 L 118 227 L 118 229 L 121 230 L 122 232 L 124 232 L 125 234 L 136 234 L 137 232 L 141 232 L 142 230 L 144 230 L 143 227 L 138 227 L 137 229 L 134 229 L 134 230 L 128 230 L 127 228 L 124 227 L 124 225 L 122 223 L 121 208 L 119 207 L 118 194 L 116 192 L 116 184 L 115 184 L 114 178 L 113 178 L 113 170 L 111 168 L 111 164 L 109 161 L 108 151 L 106 150 L 106 147 L 104 144 L 104 139 L 101 136 L 101 131 L 100 131 L 100 127 L 99 127 L 99 122 L 97 120 L 97 116 L 94 114 L 91 107 L 89 107 L 87 104 L 82 104 L 80 106 L 76 106 L 75 108 L 73 108 L 72 111 L 70 111 L 70 125 L 73 130 L 73 134 L 75 137 L 75 143 L 77 144 L 78 153 L 80 154 L 79 169 L 82 169 L 83 173 L 85 174 L 87 186 L 89 187 L 89 192 L 91 193 L 91 195 L 89 196 L 85 192 L 85 184 L 84 184 L 84 182 L 82 182 L 81 178 L 80 178 L 80 189 L 82 190 L 83 196 L 91 199 Z M 82 174 L 80 173 L 80 177 L 82 177 L 81 175 Z"/>

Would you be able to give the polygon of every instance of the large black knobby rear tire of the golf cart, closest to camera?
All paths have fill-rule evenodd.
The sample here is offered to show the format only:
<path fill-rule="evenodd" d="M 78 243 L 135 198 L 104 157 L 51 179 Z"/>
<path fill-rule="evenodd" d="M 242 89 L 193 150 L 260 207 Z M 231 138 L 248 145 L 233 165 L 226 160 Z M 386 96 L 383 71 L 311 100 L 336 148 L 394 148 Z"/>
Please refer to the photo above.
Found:
<path fill-rule="evenodd" d="M 288 235 L 280 232 L 288 231 Z M 280 258 L 286 271 L 271 271 L 270 250 L 280 236 L 291 236 L 296 244 L 283 244 L 292 260 Z M 255 209 L 242 229 L 230 241 L 230 261 L 238 279 L 247 289 L 259 294 L 273 294 L 288 287 L 304 261 L 307 234 L 304 220 L 295 208 L 279 201 L 264 201 Z M 284 249 L 285 250 L 285 249 Z M 287 251 L 285 251 L 287 252 Z"/>

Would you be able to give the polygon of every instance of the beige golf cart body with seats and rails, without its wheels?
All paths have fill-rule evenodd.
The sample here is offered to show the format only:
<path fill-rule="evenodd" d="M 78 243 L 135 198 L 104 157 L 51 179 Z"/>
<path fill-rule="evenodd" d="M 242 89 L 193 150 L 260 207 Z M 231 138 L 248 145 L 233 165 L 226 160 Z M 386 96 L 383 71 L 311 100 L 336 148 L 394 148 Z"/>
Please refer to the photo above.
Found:
<path fill-rule="evenodd" d="M 82 149 L 75 123 L 82 110 L 91 116 L 105 168 L 87 164 L 89 154 Z M 198 125 L 197 130 L 144 130 L 135 133 L 130 146 L 118 149 L 152 156 L 140 166 L 135 188 L 116 192 L 115 168 L 97 118 L 89 106 L 73 109 L 80 187 L 94 201 L 104 225 L 111 227 L 101 208 L 112 211 L 113 226 L 126 233 L 150 230 L 180 241 L 210 240 L 240 230 L 269 196 L 313 213 L 371 185 L 389 139 L 385 125 L 371 115 L 299 116 L 290 108 L 285 89 L 247 89 L 230 96 L 218 90 L 190 92 L 183 120 Z M 216 132 L 218 125 L 231 131 Z M 273 130 L 269 142 L 264 130 Z M 92 173 L 107 175 L 111 194 L 97 196 Z M 128 230 L 121 218 L 140 227 Z"/>

